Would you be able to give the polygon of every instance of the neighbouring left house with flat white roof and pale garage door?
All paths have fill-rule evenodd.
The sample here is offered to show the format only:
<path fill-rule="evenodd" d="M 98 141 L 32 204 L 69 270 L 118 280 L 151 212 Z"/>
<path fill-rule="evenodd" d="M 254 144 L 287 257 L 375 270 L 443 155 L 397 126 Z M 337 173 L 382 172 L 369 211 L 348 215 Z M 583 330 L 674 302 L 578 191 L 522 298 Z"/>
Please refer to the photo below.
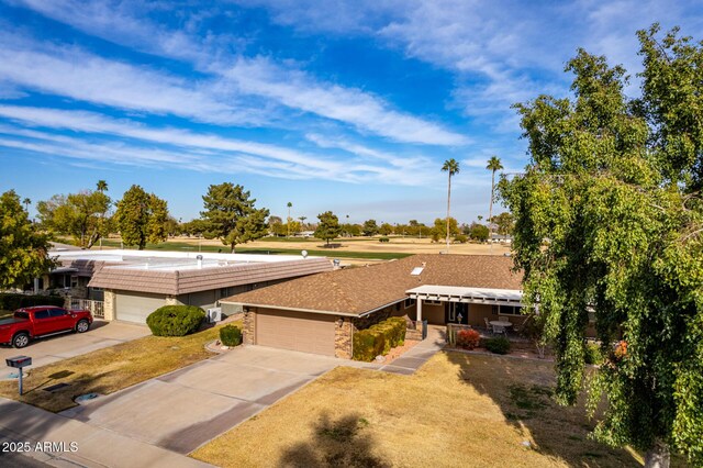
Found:
<path fill-rule="evenodd" d="M 167 304 L 219 305 L 221 298 L 330 271 L 324 257 L 158 250 L 52 250 L 77 299 L 99 302 L 104 320 L 144 323 Z M 74 287 L 75 286 L 75 287 Z M 94 304 L 77 301 L 91 310 Z"/>

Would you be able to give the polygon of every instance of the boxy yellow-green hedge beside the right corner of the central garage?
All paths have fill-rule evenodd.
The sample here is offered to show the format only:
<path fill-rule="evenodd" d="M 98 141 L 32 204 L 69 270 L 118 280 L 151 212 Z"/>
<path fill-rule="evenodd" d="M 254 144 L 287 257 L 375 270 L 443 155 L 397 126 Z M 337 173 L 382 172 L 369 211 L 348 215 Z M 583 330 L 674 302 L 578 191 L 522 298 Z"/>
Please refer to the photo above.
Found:
<path fill-rule="evenodd" d="M 356 332 L 353 338 L 354 360 L 371 361 L 384 356 L 391 348 L 405 343 L 405 319 L 391 316 L 376 325 Z"/>

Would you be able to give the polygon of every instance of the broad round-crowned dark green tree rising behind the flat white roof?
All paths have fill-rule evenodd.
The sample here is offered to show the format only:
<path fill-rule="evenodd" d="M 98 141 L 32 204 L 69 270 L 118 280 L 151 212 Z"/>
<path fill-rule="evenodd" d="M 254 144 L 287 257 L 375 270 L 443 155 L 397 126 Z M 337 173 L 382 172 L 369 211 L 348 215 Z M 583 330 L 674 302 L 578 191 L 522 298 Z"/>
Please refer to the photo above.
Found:
<path fill-rule="evenodd" d="M 237 244 L 256 241 L 268 233 L 266 219 L 269 211 L 256 209 L 256 199 L 244 187 L 232 182 L 210 186 L 202 197 L 207 221 L 205 237 L 219 238 L 234 254 Z"/>

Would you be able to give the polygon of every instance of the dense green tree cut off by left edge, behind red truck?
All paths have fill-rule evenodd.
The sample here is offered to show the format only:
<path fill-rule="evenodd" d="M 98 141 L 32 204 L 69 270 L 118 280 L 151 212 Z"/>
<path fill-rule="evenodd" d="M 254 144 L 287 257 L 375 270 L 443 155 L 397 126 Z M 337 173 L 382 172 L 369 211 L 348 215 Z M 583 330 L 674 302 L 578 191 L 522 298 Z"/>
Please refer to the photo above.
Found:
<path fill-rule="evenodd" d="M 0 289 L 22 287 L 52 267 L 48 236 L 37 231 L 14 190 L 0 196 Z"/>

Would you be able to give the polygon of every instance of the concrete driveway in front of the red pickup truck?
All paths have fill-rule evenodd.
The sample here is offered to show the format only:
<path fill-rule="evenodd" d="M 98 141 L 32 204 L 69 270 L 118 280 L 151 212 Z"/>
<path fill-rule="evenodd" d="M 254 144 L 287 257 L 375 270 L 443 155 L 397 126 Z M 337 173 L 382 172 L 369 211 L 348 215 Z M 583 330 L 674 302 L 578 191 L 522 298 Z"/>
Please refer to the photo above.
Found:
<path fill-rule="evenodd" d="M 86 333 L 68 332 L 40 338 L 32 341 L 27 347 L 22 349 L 1 345 L 0 366 L 4 366 L 4 359 L 8 357 L 26 355 L 32 357 L 32 367 L 36 368 L 68 357 L 150 335 L 150 333 L 146 325 L 97 320 Z M 32 367 L 29 368 L 30 372 L 32 371 Z M 4 374 L 5 372 L 0 372 L 0 376 Z"/>

